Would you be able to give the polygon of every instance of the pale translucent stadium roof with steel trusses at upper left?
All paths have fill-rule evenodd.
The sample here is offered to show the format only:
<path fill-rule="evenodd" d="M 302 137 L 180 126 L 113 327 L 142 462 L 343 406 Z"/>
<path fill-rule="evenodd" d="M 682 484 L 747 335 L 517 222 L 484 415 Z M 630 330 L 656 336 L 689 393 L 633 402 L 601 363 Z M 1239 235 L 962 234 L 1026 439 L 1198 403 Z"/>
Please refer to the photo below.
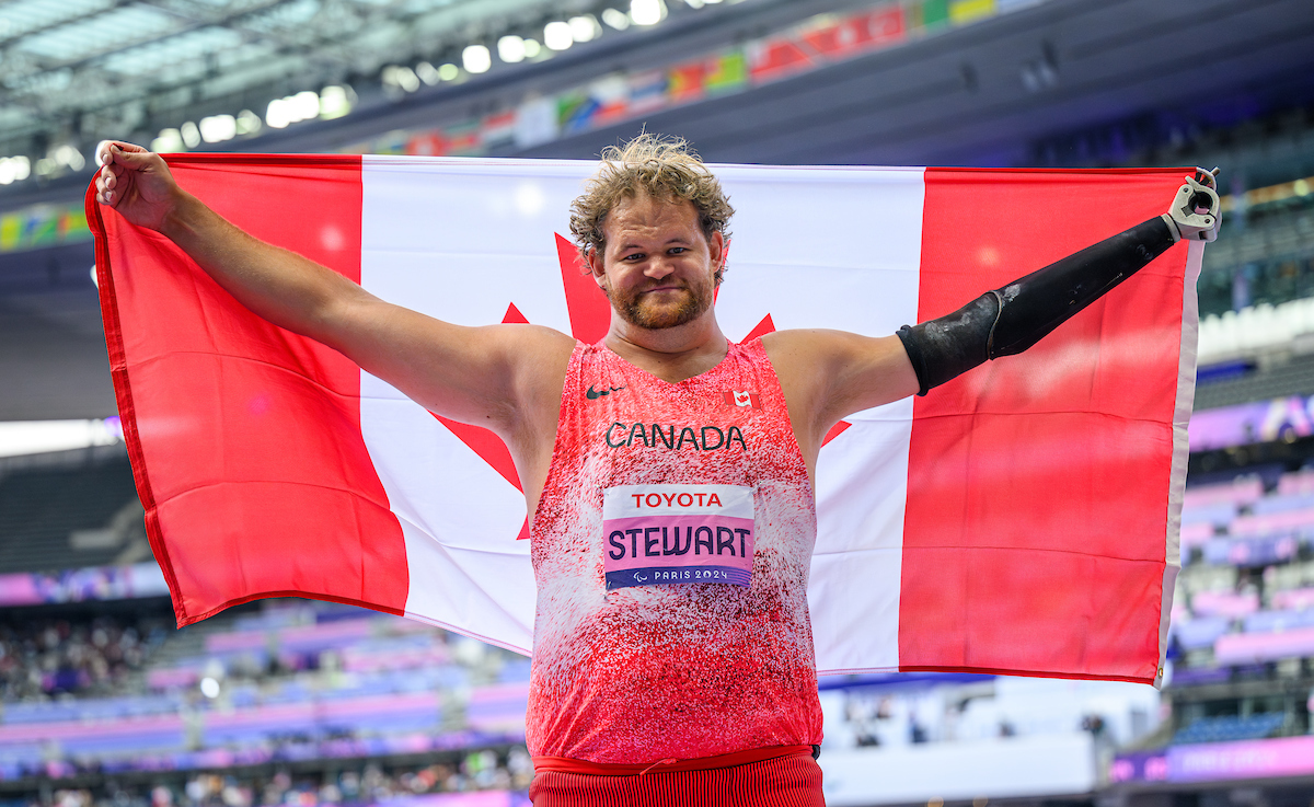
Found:
<path fill-rule="evenodd" d="M 252 96 L 377 76 L 398 60 L 606 8 L 597 0 L 0 1 L 0 154 L 30 151 L 32 138 L 147 129 L 205 100 L 246 97 L 255 106 Z"/>

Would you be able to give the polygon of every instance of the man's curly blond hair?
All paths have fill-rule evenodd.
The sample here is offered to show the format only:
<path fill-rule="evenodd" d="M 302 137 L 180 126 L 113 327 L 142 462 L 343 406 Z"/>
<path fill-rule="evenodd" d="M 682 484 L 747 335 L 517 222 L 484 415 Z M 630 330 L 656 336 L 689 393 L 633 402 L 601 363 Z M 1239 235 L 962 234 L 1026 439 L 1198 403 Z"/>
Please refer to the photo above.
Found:
<path fill-rule="evenodd" d="M 604 149 L 598 173 L 589 180 L 583 196 L 570 204 L 570 233 L 585 260 L 606 244 L 602 225 L 616 202 L 640 192 L 662 201 L 691 202 L 708 241 L 712 233 L 729 238 L 735 208 L 721 191 L 720 180 L 683 138 L 645 131 L 619 147 Z M 724 271 L 724 267 L 717 268 L 716 283 Z"/>

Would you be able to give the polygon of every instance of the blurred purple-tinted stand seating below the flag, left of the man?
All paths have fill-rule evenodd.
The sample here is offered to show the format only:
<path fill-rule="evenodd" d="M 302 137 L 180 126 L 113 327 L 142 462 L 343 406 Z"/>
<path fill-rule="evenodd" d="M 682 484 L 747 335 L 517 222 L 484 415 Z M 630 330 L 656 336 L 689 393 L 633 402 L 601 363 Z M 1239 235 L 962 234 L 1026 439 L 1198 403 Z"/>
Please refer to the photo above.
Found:
<path fill-rule="evenodd" d="M 0 779 L 53 764 L 185 770 L 524 736 L 527 660 L 481 647 L 461 661 L 443 631 L 359 609 L 267 603 L 176 632 L 151 658 L 131 694 L 7 703 Z"/>

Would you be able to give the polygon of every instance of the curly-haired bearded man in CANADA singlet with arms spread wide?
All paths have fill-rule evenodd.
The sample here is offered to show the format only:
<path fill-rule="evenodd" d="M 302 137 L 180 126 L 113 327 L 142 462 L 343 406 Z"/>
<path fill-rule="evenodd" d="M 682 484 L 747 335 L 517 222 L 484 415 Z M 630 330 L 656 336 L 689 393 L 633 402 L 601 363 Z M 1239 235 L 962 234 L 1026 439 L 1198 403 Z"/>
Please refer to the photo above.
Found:
<path fill-rule="evenodd" d="M 1171 214 L 941 319 L 733 344 L 712 308 L 733 210 L 682 142 L 644 135 L 608 150 L 573 206 L 612 305 L 606 338 L 585 346 L 384 302 L 229 225 L 159 156 L 117 142 L 100 156 L 101 204 L 171 238 L 248 309 L 506 442 L 532 517 L 537 804 L 821 803 L 807 577 L 825 434 L 1025 350 L 1180 238 L 1217 230 L 1201 172 Z"/>

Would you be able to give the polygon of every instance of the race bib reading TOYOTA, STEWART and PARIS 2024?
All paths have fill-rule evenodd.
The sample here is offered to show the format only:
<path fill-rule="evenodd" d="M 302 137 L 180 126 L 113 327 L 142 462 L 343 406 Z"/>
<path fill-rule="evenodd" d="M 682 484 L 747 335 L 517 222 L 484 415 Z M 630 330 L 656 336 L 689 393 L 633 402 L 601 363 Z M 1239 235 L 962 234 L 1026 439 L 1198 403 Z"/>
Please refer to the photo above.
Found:
<path fill-rule="evenodd" d="M 602 497 L 607 590 L 679 582 L 748 586 L 753 489 L 623 485 Z"/>

